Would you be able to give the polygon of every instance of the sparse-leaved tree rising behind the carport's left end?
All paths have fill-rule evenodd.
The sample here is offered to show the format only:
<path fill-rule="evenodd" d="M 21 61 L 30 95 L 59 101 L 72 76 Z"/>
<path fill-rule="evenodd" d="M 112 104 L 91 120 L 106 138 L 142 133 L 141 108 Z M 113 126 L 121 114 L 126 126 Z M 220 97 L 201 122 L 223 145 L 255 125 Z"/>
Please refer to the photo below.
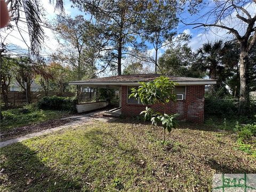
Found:
<path fill-rule="evenodd" d="M 91 47 L 94 47 L 92 25 L 82 15 L 75 18 L 59 15 L 55 25 L 58 42 L 62 45 L 56 56 L 71 65 L 77 71 L 77 79 L 81 80 L 87 68 L 95 64 L 92 63 L 94 55 L 91 55 Z"/>

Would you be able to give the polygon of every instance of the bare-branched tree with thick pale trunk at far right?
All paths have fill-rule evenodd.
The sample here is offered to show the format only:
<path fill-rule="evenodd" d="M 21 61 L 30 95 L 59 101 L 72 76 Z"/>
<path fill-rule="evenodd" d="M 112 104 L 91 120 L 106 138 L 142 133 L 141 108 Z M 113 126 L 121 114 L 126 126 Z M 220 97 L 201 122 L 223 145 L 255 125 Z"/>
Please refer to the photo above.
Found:
<path fill-rule="evenodd" d="M 239 77 L 240 77 L 240 94 L 239 94 L 239 114 L 245 114 L 247 103 L 249 101 L 249 93 L 247 86 L 249 52 L 256 42 L 256 13 L 250 12 L 249 7 L 255 9 L 256 1 L 242 0 L 242 1 L 214 1 L 213 8 L 206 14 L 208 19 L 206 22 L 195 22 L 187 25 L 196 25 L 196 27 L 215 27 L 228 31 L 233 34 L 234 38 L 239 44 Z M 233 20 L 236 19 L 238 23 L 236 28 Z M 211 22 L 212 21 L 212 22 Z M 195 28 L 196 28 L 195 27 Z M 243 30 L 239 30 L 242 29 Z"/>

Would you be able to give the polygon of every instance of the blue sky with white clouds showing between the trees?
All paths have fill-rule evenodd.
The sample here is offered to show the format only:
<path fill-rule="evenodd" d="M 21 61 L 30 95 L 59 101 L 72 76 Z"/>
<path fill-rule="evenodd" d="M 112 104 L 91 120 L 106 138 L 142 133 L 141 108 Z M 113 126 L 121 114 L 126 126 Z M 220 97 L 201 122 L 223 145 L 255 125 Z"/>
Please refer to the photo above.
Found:
<path fill-rule="evenodd" d="M 45 19 L 51 21 L 56 17 L 56 15 L 59 12 L 58 11 L 54 12 L 54 6 L 50 5 L 48 0 L 42 0 L 41 2 L 43 4 L 43 7 L 46 13 Z M 190 23 L 195 20 L 197 20 L 197 22 L 199 21 L 204 22 L 205 18 L 203 18 L 202 20 L 198 20 L 198 18 L 200 15 L 203 15 L 205 12 L 211 9 L 213 2 L 206 1 L 206 3 L 209 8 L 205 7 L 203 10 L 201 10 L 199 13 L 195 15 L 190 15 L 188 12 L 184 12 L 179 15 L 180 19 L 185 23 Z M 79 14 L 82 14 L 85 17 L 89 17 L 88 15 L 85 15 L 83 12 L 79 11 L 76 7 L 71 7 L 71 5 L 72 3 L 69 0 L 64 1 L 65 14 L 70 15 L 71 17 L 75 17 L 76 15 L 79 15 Z M 251 14 L 256 14 L 255 4 L 251 4 L 249 7 L 246 7 L 246 9 L 249 10 Z M 231 17 L 235 18 L 235 14 L 236 13 L 232 13 Z M 236 28 L 240 33 L 244 32 L 244 27 L 237 25 L 238 22 L 236 19 L 227 18 L 223 20 L 224 23 L 225 22 L 230 23 L 230 21 L 231 23 L 233 23 L 233 27 Z M 24 43 L 23 39 L 25 40 L 25 42 L 29 42 L 29 36 L 27 33 L 26 25 L 20 22 L 19 27 L 21 28 L 20 33 L 22 34 L 22 36 L 20 35 L 16 27 L 14 27 L 14 30 L 12 31 L 5 30 L 5 29 L 0 30 L 1 41 L 3 41 L 6 35 L 9 34 L 5 38 L 5 43 L 18 45 L 21 47 L 20 50 L 16 51 L 16 54 L 22 54 L 27 50 L 27 45 Z M 208 41 L 213 42 L 217 39 L 231 39 L 233 37 L 233 35 L 227 34 L 226 30 L 220 30 L 220 29 L 214 29 L 214 28 L 211 28 L 211 30 L 205 30 L 204 28 L 193 29 L 193 27 L 194 26 L 186 26 L 181 22 L 179 22 L 179 25 L 177 27 L 178 33 L 186 33 L 191 35 L 191 40 L 188 45 L 191 46 L 191 49 L 193 51 L 196 51 L 203 43 L 206 43 Z M 60 46 L 57 40 L 55 39 L 53 31 L 51 29 L 44 28 L 44 32 L 45 32 L 45 39 L 44 39 L 41 55 L 47 56 L 52 54 L 56 50 L 58 50 Z M 155 55 L 153 46 L 148 44 L 148 47 L 151 55 Z M 162 49 L 159 50 L 158 58 L 161 57 L 161 55 L 164 53 L 166 49 L 167 47 L 162 47 Z"/>

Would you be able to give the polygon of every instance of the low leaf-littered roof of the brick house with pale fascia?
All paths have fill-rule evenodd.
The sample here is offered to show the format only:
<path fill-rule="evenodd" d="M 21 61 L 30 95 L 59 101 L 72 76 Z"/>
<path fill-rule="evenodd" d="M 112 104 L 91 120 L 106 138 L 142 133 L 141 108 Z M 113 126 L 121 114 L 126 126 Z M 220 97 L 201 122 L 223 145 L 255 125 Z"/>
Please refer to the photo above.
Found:
<path fill-rule="evenodd" d="M 160 74 L 137 74 L 137 75 L 118 75 L 111 77 L 100 77 L 86 79 L 82 81 L 69 82 L 70 85 L 139 85 L 138 82 L 149 82 L 153 81 L 156 77 L 161 76 Z M 179 84 L 216 84 L 216 80 L 193 78 L 193 77 L 175 77 L 168 76 L 171 81 Z"/>

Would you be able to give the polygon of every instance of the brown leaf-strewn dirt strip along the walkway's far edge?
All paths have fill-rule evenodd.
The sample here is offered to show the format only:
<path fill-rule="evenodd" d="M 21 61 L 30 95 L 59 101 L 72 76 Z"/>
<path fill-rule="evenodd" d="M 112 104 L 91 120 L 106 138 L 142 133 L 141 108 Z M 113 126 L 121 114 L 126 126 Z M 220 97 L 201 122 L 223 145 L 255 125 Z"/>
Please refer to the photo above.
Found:
<path fill-rule="evenodd" d="M 16 127 L 12 130 L 1 132 L 1 141 L 18 138 L 29 133 L 51 129 L 72 121 L 76 121 L 76 119 L 71 119 L 71 118 L 70 119 L 51 119 L 49 121 L 42 122 L 42 123 L 35 123 L 31 125 Z"/>

